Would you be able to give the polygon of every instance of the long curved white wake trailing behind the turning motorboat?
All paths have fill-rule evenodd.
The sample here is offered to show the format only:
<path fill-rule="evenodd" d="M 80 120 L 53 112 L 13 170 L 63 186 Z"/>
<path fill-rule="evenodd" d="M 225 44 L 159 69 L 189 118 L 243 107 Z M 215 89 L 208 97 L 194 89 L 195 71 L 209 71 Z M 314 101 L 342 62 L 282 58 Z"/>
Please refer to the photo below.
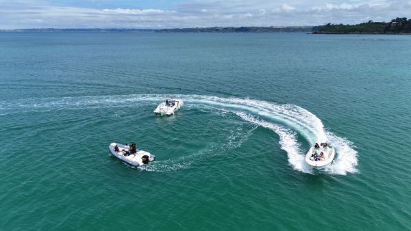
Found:
<path fill-rule="evenodd" d="M 82 109 L 99 107 L 121 107 L 146 101 L 158 101 L 160 98 L 182 98 L 188 106 L 206 106 L 236 114 L 242 120 L 268 128 L 279 136 L 279 145 L 288 154 L 290 165 L 301 172 L 313 173 L 305 163 L 306 150 L 301 150 L 297 136 L 301 135 L 309 144 L 327 141 L 336 149 L 336 159 L 325 172 L 329 174 L 347 174 L 356 172 L 357 152 L 348 139 L 338 137 L 326 131 L 323 122 L 313 113 L 297 105 L 279 105 L 264 100 L 249 98 L 221 98 L 199 95 L 155 95 L 134 94 L 120 96 L 81 96 L 64 98 L 33 98 L 0 102 L 0 114 L 5 115 L 12 109 L 30 111 L 35 109 Z M 172 163 L 172 165 L 180 165 Z M 166 167 L 169 168 L 170 166 Z M 149 168 L 147 168 L 149 169 Z"/>

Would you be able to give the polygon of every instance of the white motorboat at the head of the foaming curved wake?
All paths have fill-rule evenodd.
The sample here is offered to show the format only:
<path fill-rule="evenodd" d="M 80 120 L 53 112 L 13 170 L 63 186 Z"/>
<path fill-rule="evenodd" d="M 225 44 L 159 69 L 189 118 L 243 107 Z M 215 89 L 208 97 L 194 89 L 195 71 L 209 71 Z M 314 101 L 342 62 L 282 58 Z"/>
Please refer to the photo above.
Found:
<path fill-rule="evenodd" d="M 321 146 L 317 146 L 317 148 L 314 146 L 308 150 L 306 162 L 314 169 L 323 169 L 332 163 L 334 157 L 334 148 L 329 148 L 327 143 L 321 143 Z"/>

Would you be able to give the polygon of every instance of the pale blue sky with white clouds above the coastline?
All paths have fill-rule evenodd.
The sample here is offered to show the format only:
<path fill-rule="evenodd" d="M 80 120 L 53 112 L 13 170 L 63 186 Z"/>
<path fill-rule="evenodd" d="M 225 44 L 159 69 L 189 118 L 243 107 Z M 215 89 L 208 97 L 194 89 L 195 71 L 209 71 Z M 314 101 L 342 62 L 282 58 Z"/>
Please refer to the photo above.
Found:
<path fill-rule="evenodd" d="M 0 29 L 312 26 L 411 18 L 411 0 L 0 0 Z"/>

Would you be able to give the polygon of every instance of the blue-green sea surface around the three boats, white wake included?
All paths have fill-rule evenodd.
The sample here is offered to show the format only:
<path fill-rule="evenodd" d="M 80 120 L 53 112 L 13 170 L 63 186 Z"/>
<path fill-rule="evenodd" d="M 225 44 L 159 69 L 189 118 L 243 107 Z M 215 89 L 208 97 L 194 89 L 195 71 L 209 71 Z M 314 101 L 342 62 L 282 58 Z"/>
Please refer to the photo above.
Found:
<path fill-rule="evenodd" d="M 0 33 L 0 230 L 410 230 L 410 134 L 411 36 Z"/>

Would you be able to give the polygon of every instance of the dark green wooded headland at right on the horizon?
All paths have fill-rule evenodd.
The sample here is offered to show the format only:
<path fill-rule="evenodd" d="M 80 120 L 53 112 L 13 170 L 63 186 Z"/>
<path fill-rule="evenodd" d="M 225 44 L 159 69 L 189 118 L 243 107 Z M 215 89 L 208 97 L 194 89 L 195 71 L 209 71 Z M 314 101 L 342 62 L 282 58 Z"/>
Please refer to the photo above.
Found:
<path fill-rule="evenodd" d="M 330 24 L 319 27 L 312 33 L 411 33 L 411 19 L 395 18 L 389 23 L 373 22 L 357 25 Z"/>

